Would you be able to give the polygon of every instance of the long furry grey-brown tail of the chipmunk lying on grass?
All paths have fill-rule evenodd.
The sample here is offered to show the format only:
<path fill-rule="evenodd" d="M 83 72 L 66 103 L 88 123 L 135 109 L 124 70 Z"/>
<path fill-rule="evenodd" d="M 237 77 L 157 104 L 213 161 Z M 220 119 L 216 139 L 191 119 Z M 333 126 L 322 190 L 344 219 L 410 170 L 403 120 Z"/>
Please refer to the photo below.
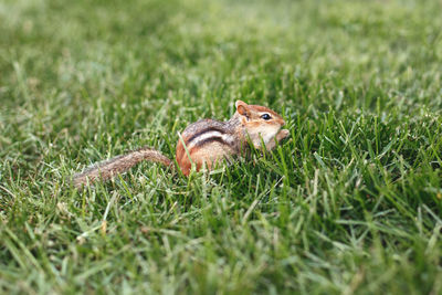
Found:
<path fill-rule="evenodd" d="M 88 182 L 92 183 L 95 180 L 108 180 L 117 173 L 125 172 L 131 167 L 143 160 L 160 162 L 166 166 L 170 166 L 172 161 L 164 156 L 161 152 L 148 147 L 144 147 L 137 150 L 133 150 L 126 155 L 117 156 L 109 160 L 98 162 L 90 168 L 86 168 L 82 173 L 74 175 L 73 182 L 76 188 L 81 188 Z"/>

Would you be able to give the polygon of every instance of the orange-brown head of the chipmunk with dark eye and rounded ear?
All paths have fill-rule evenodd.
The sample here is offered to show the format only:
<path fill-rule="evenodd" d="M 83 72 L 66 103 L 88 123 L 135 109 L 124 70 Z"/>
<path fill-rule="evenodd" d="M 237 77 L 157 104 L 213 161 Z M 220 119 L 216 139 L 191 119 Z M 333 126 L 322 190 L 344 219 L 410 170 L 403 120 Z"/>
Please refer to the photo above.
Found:
<path fill-rule="evenodd" d="M 285 124 L 283 117 L 265 106 L 248 105 L 236 101 L 236 114 L 241 125 L 252 139 L 253 145 L 260 148 L 262 141 L 267 145 Z"/>

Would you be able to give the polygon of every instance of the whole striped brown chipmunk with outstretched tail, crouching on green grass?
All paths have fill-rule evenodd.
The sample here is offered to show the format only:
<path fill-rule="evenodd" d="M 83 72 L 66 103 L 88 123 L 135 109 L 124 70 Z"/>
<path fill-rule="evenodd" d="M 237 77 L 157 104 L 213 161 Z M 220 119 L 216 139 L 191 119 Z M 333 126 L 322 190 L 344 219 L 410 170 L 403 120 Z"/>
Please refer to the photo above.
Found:
<path fill-rule="evenodd" d="M 179 135 L 176 159 L 185 176 L 189 176 L 192 165 L 197 171 L 203 166 L 210 170 L 217 161 L 240 155 L 246 147 L 248 137 L 255 148 L 261 148 L 264 143 L 265 148 L 272 150 L 276 141 L 288 136 L 287 129 L 281 130 L 285 124 L 284 119 L 272 109 L 248 105 L 242 101 L 236 101 L 235 107 L 233 117 L 227 122 L 200 119 L 190 124 Z M 143 160 L 172 165 L 172 161 L 158 150 L 145 147 L 99 162 L 75 175 L 74 186 L 81 188 L 97 179 L 110 179 Z"/>

